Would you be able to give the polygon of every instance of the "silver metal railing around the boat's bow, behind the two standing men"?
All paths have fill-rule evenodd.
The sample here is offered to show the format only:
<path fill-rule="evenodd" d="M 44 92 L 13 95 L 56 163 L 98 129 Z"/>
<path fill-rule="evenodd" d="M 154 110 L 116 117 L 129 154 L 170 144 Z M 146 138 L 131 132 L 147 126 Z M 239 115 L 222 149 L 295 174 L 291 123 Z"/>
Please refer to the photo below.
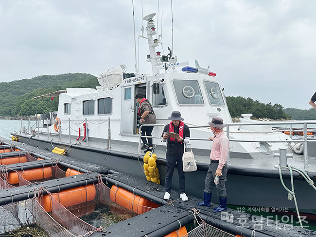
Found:
<path fill-rule="evenodd" d="M 290 125 L 290 134 L 292 132 L 292 125 L 303 125 L 303 138 L 302 139 L 292 139 L 292 136 L 290 136 L 291 139 L 289 140 L 237 140 L 237 139 L 231 139 L 230 138 L 230 134 L 233 134 L 234 132 L 230 132 L 230 127 L 231 126 L 260 126 L 260 125 Z M 226 125 L 226 134 L 228 137 L 229 142 L 266 142 L 266 143 L 298 143 L 298 142 L 302 142 L 304 144 L 304 150 L 303 150 L 303 154 L 304 154 L 304 169 L 308 169 L 308 148 L 307 148 L 307 141 L 309 142 L 316 142 L 316 139 L 310 139 L 307 136 L 307 132 L 309 131 L 314 131 L 314 130 L 307 130 L 307 125 L 308 124 L 316 124 L 316 120 L 302 120 L 302 121 L 278 121 L 278 122 L 237 122 L 237 123 L 227 123 Z M 164 127 L 166 124 L 142 124 L 140 125 L 140 129 L 139 129 L 139 145 L 138 145 L 138 154 L 140 154 L 140 145 L 141 145 L 141 138 L 142 137 L 151 137 L 151 138 L 160 138 L 160 136 L 143 136 L 141 135 L 141 128 L 142 127 L 149 127 L 149 126 L 154 126 L 154 127 Z M 188 125 L 189 128 L 192 129 L 196 129 L 196 128 L 209 128 L 209 125 L 202 125 L 202 126 L 195 126 L 195 125 Z M 276 131 L 280 131 L 281 130 L 276 130 Z M 299 130 L 301 131 L 301 130 Z M 200 137 L 190 137 L 190 140 L 198 140 L 198 141 L 209 141 L 208 138 L 200 138 Z M 229 148 L 230 150 L 230 148 Z M 229 152 L 228 152 L 228 162 L 229 162 Z"/>

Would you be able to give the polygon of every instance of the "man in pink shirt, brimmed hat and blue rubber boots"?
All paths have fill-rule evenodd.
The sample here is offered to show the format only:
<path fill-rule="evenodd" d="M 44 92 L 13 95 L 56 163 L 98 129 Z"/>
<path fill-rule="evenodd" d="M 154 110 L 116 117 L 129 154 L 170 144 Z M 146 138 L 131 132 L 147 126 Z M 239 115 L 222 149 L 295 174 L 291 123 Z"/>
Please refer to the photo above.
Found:
<path fill-rule="evenodd" d="M 208 122 L 211 126 L 211 131 L 214 136 L 209 137 L 213 141 L 212 150 L 210 154 L 211 164 L 205 178 L 204 188 L 204 200 L 201 203 L 197 203 L 200 206 L 211 206 L 211 194 L 212 189 L 215 186 L 214 179 L 218 177 L 217 196 L 219 197 L 220 205 L 213 209 L 214 212 L 221 212 L 226 210 L 226 177 L 227 177 L 227 156 L 229 152 L 229 141 L 223 128 L 226 127 L 223 123 L 223 119 L 214 117 L 211 122 Z"/>

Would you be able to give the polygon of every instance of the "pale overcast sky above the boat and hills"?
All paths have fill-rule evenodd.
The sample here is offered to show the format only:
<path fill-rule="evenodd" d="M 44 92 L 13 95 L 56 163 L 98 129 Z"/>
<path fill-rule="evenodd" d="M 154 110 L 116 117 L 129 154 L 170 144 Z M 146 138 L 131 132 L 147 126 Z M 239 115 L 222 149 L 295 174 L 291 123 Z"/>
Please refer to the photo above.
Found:
<path fill-rule="evenodd" d="M 170 2 L 159 1 L 166 53 Z M 141 0 L 134 8 L 139 35 Z M 315 9 L 315 0 L 173 0 L 174 53 L 178 62 L 210 65 L 227 96 L 309 109 L 316 91 Z M 143 0 L 143 16 L 157 10 L 158 0 Z M 140 72 L 151 72 L 143 39 L 139 51 Z M 135 70 L 132 0 L 0 0 L 1 82 L 97 76 L 122 63 Z"/>

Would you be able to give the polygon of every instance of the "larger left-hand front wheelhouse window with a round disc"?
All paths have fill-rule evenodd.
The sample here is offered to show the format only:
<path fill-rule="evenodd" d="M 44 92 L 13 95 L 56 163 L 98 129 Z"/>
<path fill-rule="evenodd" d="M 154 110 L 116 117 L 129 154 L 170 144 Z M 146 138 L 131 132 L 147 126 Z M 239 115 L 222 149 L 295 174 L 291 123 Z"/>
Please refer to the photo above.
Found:
<path fill-rule="evenodd" d="M 196 80 L 173 80 L 178 104 L 204 104 L 200 86 Z"/>

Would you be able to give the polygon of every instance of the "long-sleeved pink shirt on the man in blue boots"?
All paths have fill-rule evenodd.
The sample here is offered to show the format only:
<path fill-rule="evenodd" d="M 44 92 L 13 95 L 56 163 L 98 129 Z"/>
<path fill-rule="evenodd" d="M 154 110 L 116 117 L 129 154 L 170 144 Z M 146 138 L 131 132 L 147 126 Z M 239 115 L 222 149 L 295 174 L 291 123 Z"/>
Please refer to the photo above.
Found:
<path fill-rule="evenodd" d="M 218 160 L 218 169 L 223 169 L 228 156 L 229 141 L 224 131 L 215 135 L 210 154 L 211 160 Z"/>

